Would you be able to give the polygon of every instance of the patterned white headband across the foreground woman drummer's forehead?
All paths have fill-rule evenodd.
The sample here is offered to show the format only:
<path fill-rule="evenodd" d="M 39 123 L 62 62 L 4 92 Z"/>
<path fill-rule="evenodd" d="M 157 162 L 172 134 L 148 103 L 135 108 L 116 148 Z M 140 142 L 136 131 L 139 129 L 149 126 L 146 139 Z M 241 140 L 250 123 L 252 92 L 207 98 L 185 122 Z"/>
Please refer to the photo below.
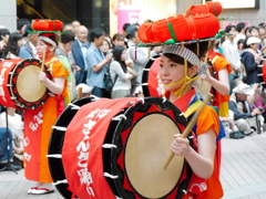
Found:
<path fill-rule="evenodd" d="M 163 49 L 163 53 L 176 54 L 185 60 L 187 60 L 192 65 L 197 65 L 201 67 L 201 61 L 197 55 L 191 50 L 182 45 L 166 45 Z"/>

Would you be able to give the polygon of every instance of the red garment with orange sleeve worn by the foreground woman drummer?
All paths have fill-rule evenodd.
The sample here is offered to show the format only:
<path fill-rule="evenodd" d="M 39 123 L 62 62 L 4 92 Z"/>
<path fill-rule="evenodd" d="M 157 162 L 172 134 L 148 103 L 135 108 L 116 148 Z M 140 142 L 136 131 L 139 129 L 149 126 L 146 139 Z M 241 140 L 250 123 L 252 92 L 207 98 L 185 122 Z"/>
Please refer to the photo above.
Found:
<path fill-rule="evenodd" d="M 174 104 L 182 111 L 185 112 L 186 108 L 188 107 L 188 104 L 192 100 L 192 96 L 195 94 L 195 90 L 192 90 L 191 92 L 186 93 L 178 100 L 174 102 Z M 166 93 L 166 96 L 168 93 Z M 204 134 L 206 130 L 208 130 L 211 127 L 214 129 L 216 136 L 218 136 L 219 133 L 219 121 L 218 116 L 215 112 L 215 109 L 211 106 L 205 106 L 203 112 L 197 118 L 197 128 L 196 128 L 196 135 L 200 136 Z M 223 188 L 219 181 L 219 176 L 218 176 L 218 146 L 215 151 L 215 158 L 214 158 L 214 172 L 209 179 L 206 179 L 205 182 L 207 185 L 207 190 L 198 193 L 198 195 L 185 195 L 183 198 L 188 198 L 193 197 L 193 199 L 218 199 L 223 197 Z M 193 181 L 193 184 L 196 184 L 197 181 Z M 192 184 L 192 185 L 193 185 Z M 188 187 L 190 190 L 190 187 Z"/>

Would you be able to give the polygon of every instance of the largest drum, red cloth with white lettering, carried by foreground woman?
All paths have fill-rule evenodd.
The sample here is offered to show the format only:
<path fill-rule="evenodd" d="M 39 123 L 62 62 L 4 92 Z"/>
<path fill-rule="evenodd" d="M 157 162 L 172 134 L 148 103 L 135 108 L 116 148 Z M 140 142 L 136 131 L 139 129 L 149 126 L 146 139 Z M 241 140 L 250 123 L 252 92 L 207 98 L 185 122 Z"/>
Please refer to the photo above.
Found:
<path fill-rule="evenodd" d="M 68 192 L 65 198 L 174 199 L 183 195 L 178 185 L 184 158 L 175 156 L 163 169 L 174 135 L 186 126 L 175 105 L 162 97 L 86 103 L 78 101 L 73 113 L 65 109 L 50 142 L 51 174 L 55 185 L 64 185 L 64 191 L 59 191 Z"/>

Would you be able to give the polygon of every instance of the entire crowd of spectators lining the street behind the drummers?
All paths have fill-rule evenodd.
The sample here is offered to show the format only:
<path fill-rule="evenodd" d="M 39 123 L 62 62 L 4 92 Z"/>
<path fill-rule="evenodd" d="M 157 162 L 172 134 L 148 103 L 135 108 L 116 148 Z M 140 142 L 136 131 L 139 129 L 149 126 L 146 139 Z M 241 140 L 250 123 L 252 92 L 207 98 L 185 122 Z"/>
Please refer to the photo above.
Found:
<path fill-rule="evenodd" d="M 82 96 L 110 98 L 143 96 L 141 87 L 143 69 L 152 56 L 161 53 L 162 48 L 137 48 L 141 42 L 137 35 L 139 27 L 137 23 L 125 23 L 123 33 L 109 35 L 100 28 L 89 30 L 76 20 L 63 25 L 55 54 L 64 56 L 70 64 L 71 101 L 76 98 L 79 87 L 82 88 Z M 228 35 L 215 42 L 214 50 L 224 55 L 233 70 L 228 76 L 229 116 L 221 117 L 231 138 L 244 138 L 266 130 L 266 84 L 262 77 L 266 53 L 265 31 L 265 23 L 246 27 L 239 22 L 226 27 L 225 32 Z M 1 25 L 0 59 L 38 59 L 37 40 L 38 34 L 31 31 L 30 20 L 19 20 L 16 32 L 10 32 Z M 114 82 L 111 92 L 106 92 L 104 85 L 104 73 L 108 69 Z M 22 116 L 21 112 L 19 113 Z M 23 118 L 18 117 L 18 111 L 12 109 L 11 113 L 10 109 L 11 122 L 14 116 L 22 123 Z M 2 115 L 1 119 L 3 118 Z M 0 136 L 7 133 L 4 128 L 0 132 Z M 10 132 L 14 140 L 12 144 L 14 155 L 11 160 L 17 157 L 18 165 L 23 166 L 21 164 L 23 127 L 19 123 L 13 129 L 10 124 Z M 0 156 L 0 167 L 3 167 L 7 154 Z"/>

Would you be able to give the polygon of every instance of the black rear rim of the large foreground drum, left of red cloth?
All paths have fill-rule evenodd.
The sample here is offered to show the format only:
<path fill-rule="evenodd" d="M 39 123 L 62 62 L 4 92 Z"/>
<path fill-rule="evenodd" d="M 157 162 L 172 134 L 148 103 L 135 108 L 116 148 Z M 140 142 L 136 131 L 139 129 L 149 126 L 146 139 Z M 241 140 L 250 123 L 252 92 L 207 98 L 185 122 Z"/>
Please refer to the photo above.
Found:
<path fill-rule="evenodd" d="M 83 106 L 88 103 L 91 103 L 92 101 L 94 101 L 94 98 L 84 97 L 73 102 L 73 104 L 76 106 Z M 73 106 L 69 105 L 58 118 L 55 126 L 68 127 L 72 118 L 75 116 L 76 112 L 78 109 L 73 109 Z M 49 155 L 62 155 L 64 135 L 65 135 L 64 130 L 59 130 L 57 128 L 52 130 L 52 134 L 50 137 L 50 144 L 49 144 L 49 153 L 48 153 Z M 49 157 L 49 168 L 50 168 L 53 182 L 65 179 L 62 158 Z M 55 185 L 55 187 L 64 198 L 70 199 L 71 196 L 73 195 L 73 192 L 69 190 L 69 184 L 59 184 L 59 185 Z"/>

